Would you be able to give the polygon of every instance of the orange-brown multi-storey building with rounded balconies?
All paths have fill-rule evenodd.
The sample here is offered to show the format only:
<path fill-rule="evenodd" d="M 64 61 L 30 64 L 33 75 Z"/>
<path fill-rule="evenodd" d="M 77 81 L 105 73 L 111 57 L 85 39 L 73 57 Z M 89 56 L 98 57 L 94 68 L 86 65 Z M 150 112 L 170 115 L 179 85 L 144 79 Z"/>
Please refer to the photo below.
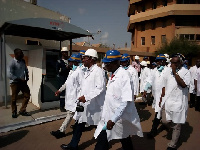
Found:
<path fill-rule="evenodd" d="M 155 9 L 152 7 L 153 2 L 130 1 L 128 31 L 132 33 L 131 51 L 154 52 L 162 44 L 162 37 L 166 37 L 169 42 L 175 36 L 191 36 L 193 41 L 198 39 L 200 43 L 199 1 L 188 5 L 177 0 L 167 0 L 167 6 L 164 6 L 163 0 L 157 0 Z M 155 44 L 152 44 L 151 37 L 155 37 Z M 141 44 L 141 38 L 145 38 L 145 45 Z"/>

